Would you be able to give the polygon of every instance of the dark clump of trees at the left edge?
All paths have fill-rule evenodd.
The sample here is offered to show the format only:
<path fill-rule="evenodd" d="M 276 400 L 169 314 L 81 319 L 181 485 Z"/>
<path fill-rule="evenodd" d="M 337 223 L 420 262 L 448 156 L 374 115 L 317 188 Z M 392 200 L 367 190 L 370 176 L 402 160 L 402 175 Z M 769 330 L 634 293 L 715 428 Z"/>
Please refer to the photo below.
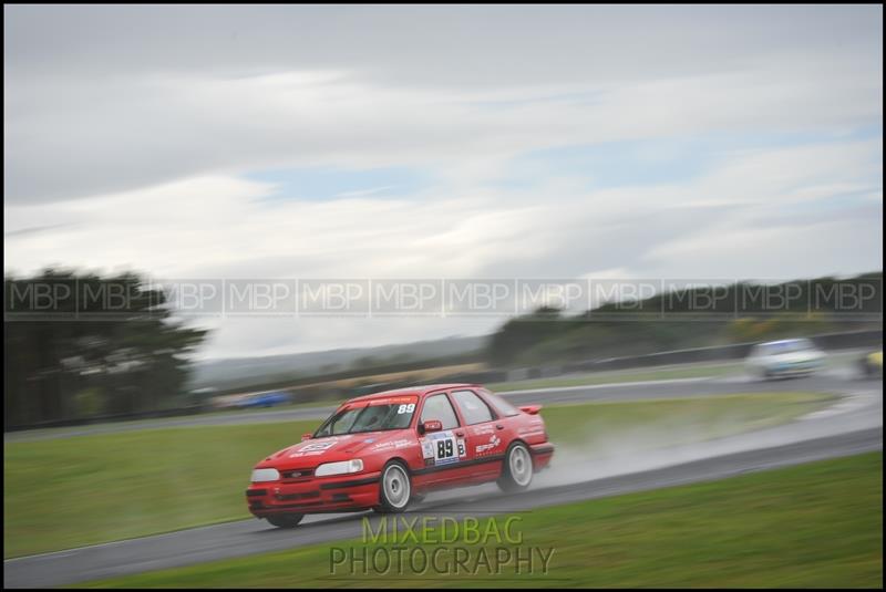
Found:
<path fill-rule="evenodd" d="M 3 297 L 6 428 L 188 403 L 188 355 L 206 331 L 174 321 L 137 274 L 7 276 Z"/>

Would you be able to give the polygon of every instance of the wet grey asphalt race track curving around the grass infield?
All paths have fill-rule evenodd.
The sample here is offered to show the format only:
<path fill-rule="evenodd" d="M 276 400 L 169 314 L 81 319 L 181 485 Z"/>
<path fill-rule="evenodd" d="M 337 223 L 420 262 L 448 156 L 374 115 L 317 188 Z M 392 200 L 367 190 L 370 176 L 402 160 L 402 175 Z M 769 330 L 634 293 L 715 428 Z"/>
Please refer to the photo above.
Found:
<path fill-rule="evenodd" d="M 530 511 L 533 508 L 581 499 L 655 489 L 692 481 L 720 479 L 822 458 L 883 448 L 883 381 L 859 380 L 849 368 L 817 376 L 759 382 L 743 377 L 688 378 L 522 391 L 512 402 L 569 403 L 631 401 L 728 393 L 817 391 L 839 393 L 841 401 L 783 426 L 740 434 L 704 446 L 681 446 L 643 453 L 630 463 L 589 463 L 568 471 L 557 469 L 536 476 L 523 494 L 503 495 L 494 486 L 457 489 L 431 496 L 414 508 L 418 515 L 459 517 Z M 292 409 L 240 415 L 235 422 L 286 420 L 324 416 L 327 409 Z M 272 419 L 265 416 L 272 415 Z M 186 422 L 186 423 L 179 423 Z M 189 423 L 187 423 L 189 422 Z M 171 425 L 206 425 L 200 418 L 175 419 Z M 164 423 L 163 427 L 166 426 Z M 104 427 L 104 426 L 94 426 Z M 152 426 L 161 427 L 161 426 Z M 89 429 L 89 426 L 84 429 Z M 68 434 L 70 435 L 70 433 Z M 556 442 L 556 439 L 554 440 Z M 555 455 L 555 463 L 557 456 Z M 577 478 L 576 475 L 581 477 Z M 245 510 L 244 510 L 245 511 Z M 158 570 L 305 544 L 359 538 L 362 517 L 371 513 L 309 516 L 293 530 L 269 528 L 264 520 L 195 528 L 126 541 L 71 549 L 3 562 L 8 588 L 53 586 Z M 372 518 L 374 519 L 374 517 Z"/>

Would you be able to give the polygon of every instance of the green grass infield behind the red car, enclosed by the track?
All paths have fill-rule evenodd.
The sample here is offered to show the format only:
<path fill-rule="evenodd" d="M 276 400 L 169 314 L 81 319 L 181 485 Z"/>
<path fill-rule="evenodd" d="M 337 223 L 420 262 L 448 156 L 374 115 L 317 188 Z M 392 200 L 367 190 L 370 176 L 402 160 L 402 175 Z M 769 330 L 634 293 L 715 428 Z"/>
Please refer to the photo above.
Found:
<path fill-rule="evenodd" d="M 764 427 L 826 395 L 769 393 L 546 407 L 552 439 L 604 447 L 626 434 L 667 446 Z M 4 557 L 248 518 L 253 465 L 319 422 L 124 432 L 4 444 Z M 556 460 L 556 457 L 555 457 Z"/>

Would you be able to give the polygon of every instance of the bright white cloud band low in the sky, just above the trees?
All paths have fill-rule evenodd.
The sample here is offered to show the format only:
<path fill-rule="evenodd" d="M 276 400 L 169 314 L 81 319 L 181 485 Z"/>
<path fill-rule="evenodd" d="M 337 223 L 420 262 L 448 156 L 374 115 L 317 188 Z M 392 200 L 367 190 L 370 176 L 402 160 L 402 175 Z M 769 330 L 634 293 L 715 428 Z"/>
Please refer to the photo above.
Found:
<path fill-rule="evenodd" d="M 131 263 L 157 279 L 859 272 L 883 263 L 882 204 L 866 193 L 877 183 L 880 152 L 873 141 L 773 148 L 733 155 L 705 175 L 667 186 L 583 190 L 555 181 L 524 193 L 439 189 L 422 199 L 370 194 L 269 201 L 274 184 L 197 177 L 92 199 L 7 206 L 8 225 L 42 219 L 70 226 L 51 238 L 8 236 L 6 267 L 30 271 L 76 261 L 111 270 Z M 847 188 L 862 190 L 855 209 L 820 211 Z M 212 351 L 279 353 L 287 332 L 290 349 L 369 345 L 427 336 L 423 331 L 488 331 L 503 320 L 389 319 L 387 330 L 365 319 L 225 321 L 216 323 Z"/>

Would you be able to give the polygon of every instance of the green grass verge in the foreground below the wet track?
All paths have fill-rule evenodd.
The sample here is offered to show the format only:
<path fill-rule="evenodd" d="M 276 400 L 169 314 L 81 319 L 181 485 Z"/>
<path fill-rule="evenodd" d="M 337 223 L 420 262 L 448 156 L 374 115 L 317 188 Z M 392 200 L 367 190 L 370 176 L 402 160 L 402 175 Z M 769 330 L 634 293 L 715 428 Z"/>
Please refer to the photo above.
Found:
<path fill-rule="evenodd" d="M 408 561 L 403 575 L 394 568 L 385 571 L 383 562 L 378 570 L 369 562 L 368 575 L 362 575 L 360 565 L 356 571 L 339 565 L 332 574 L 333 547 L 359 553 L 378 544 L 357 540 L 91 582 L 83 588 L 883 585 L 882 453 L 539 509 L 519 518 L 513 531 L 522 533 L 522 549 L 553 549 L 547 574 L 540 562 L 534 573 L 524 570 L 522 575 L 513 564 L 456 574 L 452 564 L 440 562 L 442 575 L 434 569 L 413 572 Z M 496 520 L 498 530 L 504 530 L 505 517 Z M 481 549 L 495 557 L 496 538 L 486 540 L 485 546 L 461 541 L 444 547 L 466 549 L 476 562 Z M 515 548 L 511 543 L 505 548 L 508 544 Z M 430 555 L 440 544 L 422 547 Z"/>

